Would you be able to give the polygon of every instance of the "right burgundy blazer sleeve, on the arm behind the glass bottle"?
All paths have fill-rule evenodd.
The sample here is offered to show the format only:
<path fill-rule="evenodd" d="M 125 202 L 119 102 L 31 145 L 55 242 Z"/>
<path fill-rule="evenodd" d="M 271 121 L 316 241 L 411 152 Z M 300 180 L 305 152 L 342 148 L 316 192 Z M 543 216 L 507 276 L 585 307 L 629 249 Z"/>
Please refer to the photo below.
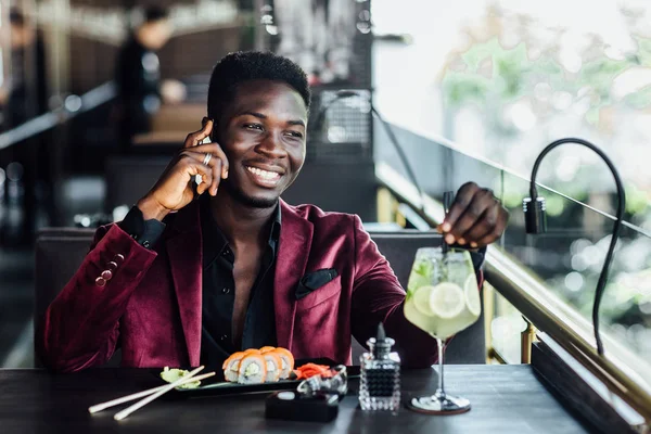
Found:
<path fill-rule="evenodd" d="M 405 318 L 406 293 L 391 266 L 354 216 L 355 280 L 350 328 L 355 339 L 365 344 L 384 323 L 386 334 L 396 341 L 401 363 L 408 368 L 425 368 L 436 362 L 436 340 Z"/>

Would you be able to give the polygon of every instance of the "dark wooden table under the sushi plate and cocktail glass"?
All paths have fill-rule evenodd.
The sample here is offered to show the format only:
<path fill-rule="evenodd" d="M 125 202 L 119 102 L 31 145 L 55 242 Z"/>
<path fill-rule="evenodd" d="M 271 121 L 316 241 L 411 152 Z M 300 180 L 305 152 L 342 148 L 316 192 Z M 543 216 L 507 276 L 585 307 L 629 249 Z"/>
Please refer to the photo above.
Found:
<path fill-rule="evenodd" d="M 433 369 L 403 373 L 403 397 L 436 388 Z M 538 382 L 529 366 L 449 366 L 449 392 L 472 410 L 449 417 L 401 408 L 363 412 L 350 394 L 331 423 L 267 420 L 267 394 L 188 400 L 157 399 L 116 422 L 115 407 L 89 414 L 90 405 L 159 385 L 151 370 L 92 369 L 73 374 L 0 370 L 0 433 L 586 433 L 589 432 Z M 353 390 L 357 381 L 352 381 Z"/>

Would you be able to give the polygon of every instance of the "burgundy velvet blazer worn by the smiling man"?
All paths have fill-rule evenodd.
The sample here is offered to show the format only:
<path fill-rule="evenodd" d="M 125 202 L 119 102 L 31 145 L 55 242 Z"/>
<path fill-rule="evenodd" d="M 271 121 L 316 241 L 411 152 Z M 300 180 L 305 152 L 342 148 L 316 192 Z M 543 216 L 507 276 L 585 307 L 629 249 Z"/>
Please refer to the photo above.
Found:
<path fill-rule="evenodd" d="M 282 201 L 281 213 L 273 282 L 279 346 L 295 358 L 329 357 L 349 365 L 353 336 L 366 343 L 382 321 L 405 365 L 436 361 L 435 341 L 405 319 L 405 291 L 359 217 Z M 91 251 L 40 321 L 36 347 L 47 367 L 76 371 L 100 366 L 118 346 L 125 367 L 199 366 L 197 201 L 168 217 L 153 250 L 117 225 L 98 229 Z M 124 261 L 100 286 L 97 278 L 117 254 Z M 328 268 L 339 276 L 297 299 L 301 278 Z"/>

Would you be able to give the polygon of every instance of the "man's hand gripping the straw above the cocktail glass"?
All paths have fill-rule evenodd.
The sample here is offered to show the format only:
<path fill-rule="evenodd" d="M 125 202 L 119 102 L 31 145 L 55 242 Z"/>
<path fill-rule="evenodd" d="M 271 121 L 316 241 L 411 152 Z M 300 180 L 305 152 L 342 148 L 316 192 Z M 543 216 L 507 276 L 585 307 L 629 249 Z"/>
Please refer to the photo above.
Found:
<path fill-rule="evenodd" d="M 484 247 L 503 233 L 509 212 L 489 189 L 474 182 L 461 186 L 455 203 L 437 230 L 445 234 L 445 242 L 471 248 Z"/>

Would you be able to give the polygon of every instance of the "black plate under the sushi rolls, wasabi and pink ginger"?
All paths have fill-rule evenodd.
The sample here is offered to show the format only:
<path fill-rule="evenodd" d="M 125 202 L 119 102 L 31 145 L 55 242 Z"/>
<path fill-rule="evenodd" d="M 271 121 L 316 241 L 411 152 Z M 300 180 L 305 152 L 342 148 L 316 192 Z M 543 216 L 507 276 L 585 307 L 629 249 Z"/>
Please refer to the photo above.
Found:
<path fill-rule="evenodd" d="M 294 366 L 299 367 L 305 363 L 317 363 L 326 366 L 336 366 L 337 363 L 329 358 L 316 358 L 316 359 L 298 359 L 295 360 Z M 206 369 L 207 371 L 207 369 Z M 200 372 L 197 375 L 201 375 Z M 355 379 L 359 376 L 358 366 L 347 366 L 346 373 L 348 379 Z M 161 379 L 161 371 L 156 371 L 155 375 Z M 200 398 L 207 396 L 222 396 L 222 395 L 240 395 L 250 393 L 264 393 L 275 391 L 293 391 L 301 383 L 302 380 L 280 380 L 276 383 L 263 383 L 263 384 L 239 384 L 239 383 L 227 383 L 224 384 L 224 371 L 215 371 L 215 376 L 203 380 L 201 386 L 195 388 L 175 388 L 167 395 L 176 398 Z"/>

